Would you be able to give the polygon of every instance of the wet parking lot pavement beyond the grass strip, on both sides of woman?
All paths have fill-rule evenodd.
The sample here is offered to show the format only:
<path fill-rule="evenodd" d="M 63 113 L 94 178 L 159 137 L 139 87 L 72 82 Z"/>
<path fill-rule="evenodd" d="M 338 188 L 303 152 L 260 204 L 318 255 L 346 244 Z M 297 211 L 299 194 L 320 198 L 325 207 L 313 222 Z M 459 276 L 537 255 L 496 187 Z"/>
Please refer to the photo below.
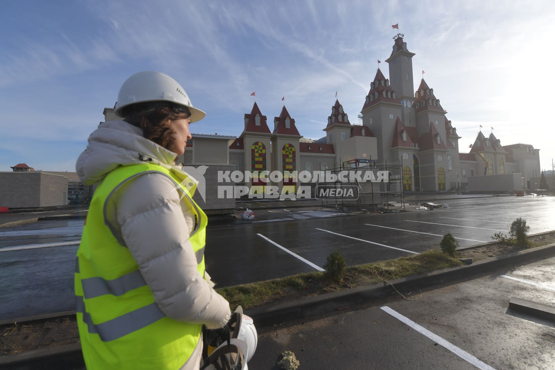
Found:
<path fill-rule="evenodd" d="M 223 287 L 315 271 L 336 249 L 347 265 L 359 265 L 425 251 L 447 232 L 468 246 L 491 241 L 498 230 L 507 232 L 519 216 L 531 233 L 553 230 L 554 206 L 553 197 L 488 197 L 450 200 L 448 209 L 435 211 L 214 222 L 207 231 L 206 270 Z M 39 221 L 0 229 L 0 320 L 73 309 L 82 224 Z M 54 246 L 67 242 L 75 245 Z M 36 244 L 49 246 L 37 249 Z M 21 249 L 26 247 L 32 249 Z"/>

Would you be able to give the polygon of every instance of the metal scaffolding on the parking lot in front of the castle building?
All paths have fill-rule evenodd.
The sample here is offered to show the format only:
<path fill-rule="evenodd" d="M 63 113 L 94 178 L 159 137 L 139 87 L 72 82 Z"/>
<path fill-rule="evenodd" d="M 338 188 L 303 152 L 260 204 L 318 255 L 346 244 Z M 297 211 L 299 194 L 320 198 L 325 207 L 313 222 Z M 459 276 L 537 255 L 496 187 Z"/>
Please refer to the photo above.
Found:
<path fill-rule="evenodd" d="M 376 164 L 375 160 L 371 159 L 353 159 L 343 163 L 335 164 L 334 168 L 326 169 L 326 173 L 339 175 L 341 171 L 361 171 L 362 176 L 366 171 L 388 171 L 387 182 L 359 182 L 355 176 L 349 174 L 349 181 L 342 182 L 339 178 L 335 181 L 322 181 L 317 183 L 317 186 L 334 186 L 336 189 L 345 189 L 355 186 L 358 190 L 359 196 L 357 199 L 348 199 L 344 196 L 345 191 L 341 192 L 341 197 L 321 199 L 322 208 L 335 207 L 341 208 L 345 212 L 346 207 L 355 206 L 360 213 L 365 212 L 394 212 L 397 207 L 392 206 L 393 200 L 398 200 L 401 203 L 401 208 L 405 211 L 405 191 L 403 186 L 402 176 L 402 162 L 398 164 L 391 164 L 385 161 L 384 164 Z M 329 176 L 330 178 L 333 176 Z M 326 176 L 327 180 L 328 176 Z M 354 182 L 350 180 L 354 179 Z M 316 187 L 317 189 L 317 187 Z M 315 196 L 317 194 L 315 193 Z M 390 200 L 391 199 L 391 200 Z M 397 203 L 397 201 L 395 201 Z M 393 207 L 393 209 L 391 209 Z"/>

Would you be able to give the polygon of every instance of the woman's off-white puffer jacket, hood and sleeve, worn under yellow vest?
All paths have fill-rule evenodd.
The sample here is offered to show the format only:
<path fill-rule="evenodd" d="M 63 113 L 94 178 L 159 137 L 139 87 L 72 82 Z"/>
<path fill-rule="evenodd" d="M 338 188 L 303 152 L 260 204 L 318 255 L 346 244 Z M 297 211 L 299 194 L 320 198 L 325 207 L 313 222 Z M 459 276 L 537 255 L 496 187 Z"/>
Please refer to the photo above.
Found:
<path fill-rule="evenodd" d="M 149 163 L 180 171 L 173 166 L 177 154 L 145 139 L 140 128 L 124 121 L 101 123 L 88 141 L 77 160 L 77 174 L 85 185 L 97 183 L 119 165 L 144 164 L 139 153 L 152 158 Z M 191 205 L 179 197 L 167 176 L 141 175 L 108 199 L 108 220 L 166 316 L 208 328 L 223 327 L 231 315 L 229 303 L 196 271 L 189 241 L 194 215 Z M 148 242 L 152 240 L 157 245 Z"/>

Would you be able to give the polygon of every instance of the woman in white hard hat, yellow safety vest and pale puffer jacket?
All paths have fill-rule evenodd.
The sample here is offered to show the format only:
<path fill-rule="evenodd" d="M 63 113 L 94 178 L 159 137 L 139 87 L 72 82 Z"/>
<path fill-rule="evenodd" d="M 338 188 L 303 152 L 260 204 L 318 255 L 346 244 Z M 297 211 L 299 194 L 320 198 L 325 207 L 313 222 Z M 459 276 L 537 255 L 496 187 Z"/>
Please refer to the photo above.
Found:
<path fill-rule="evenodd" d="M 93 369 L 198 369 L 201 327 L 224 327 L 229 303 L 204 271 L 206 215 L 175 159 L 204 118 L 174 79 L 140 72 L 79 156 L 96 184 L 75 265 L 77 323 Z"/>

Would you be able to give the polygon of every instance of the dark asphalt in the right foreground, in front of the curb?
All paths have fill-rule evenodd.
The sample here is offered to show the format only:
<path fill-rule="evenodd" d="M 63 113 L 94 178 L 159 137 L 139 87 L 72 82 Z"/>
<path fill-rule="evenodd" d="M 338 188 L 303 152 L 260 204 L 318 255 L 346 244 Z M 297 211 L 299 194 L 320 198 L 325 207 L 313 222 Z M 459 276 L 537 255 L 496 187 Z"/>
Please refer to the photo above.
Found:
<path fill-rule="evenodd" d="M 555 305 L 555 258 L 488 276 L 261 328 L 249 367 L 278 369 L 553 369 L 555 323 L 508 309 L 515 296 Z M 420 298 L 419 298 L 420 297 Z"/>

